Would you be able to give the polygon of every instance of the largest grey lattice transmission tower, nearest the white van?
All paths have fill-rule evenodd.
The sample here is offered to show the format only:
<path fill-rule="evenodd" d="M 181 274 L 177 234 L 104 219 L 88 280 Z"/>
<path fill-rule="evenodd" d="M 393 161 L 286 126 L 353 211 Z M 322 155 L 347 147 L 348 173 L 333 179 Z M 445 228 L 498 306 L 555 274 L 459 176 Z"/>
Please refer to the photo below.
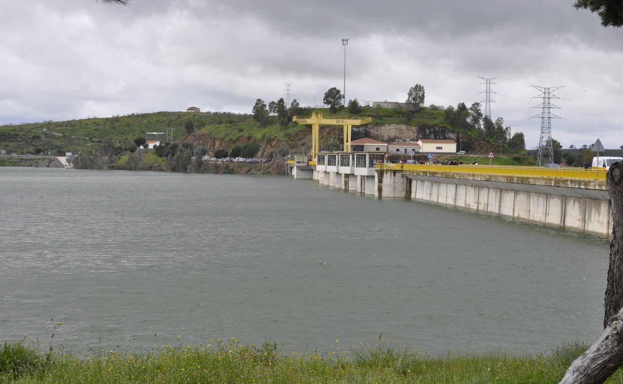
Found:
<path fill-rule="evenodd" d="M 539 149 L 536 154 L 536 162 L 540 166 L 543 164 L 549 164 L 554 162 L 554 148 L 551 139 L 551 119 L 561 118 L 558 115 L 551 113 L 552 108 L 560 109 L 558 105 L 551 102 L 551 99 L 559 99 L 558 96 L 553 93 L 563 86 L 559 87 L 539 87 L 538 85 L 531 85 L 536 90 L 541 91 L 541 94 L 533 98 L 543 99 L 543 103 L 535 105 L 532 108 L 541 108 L 541 113 L 530 118 L 541 118 L 541 136 L 539 137 Z"/>

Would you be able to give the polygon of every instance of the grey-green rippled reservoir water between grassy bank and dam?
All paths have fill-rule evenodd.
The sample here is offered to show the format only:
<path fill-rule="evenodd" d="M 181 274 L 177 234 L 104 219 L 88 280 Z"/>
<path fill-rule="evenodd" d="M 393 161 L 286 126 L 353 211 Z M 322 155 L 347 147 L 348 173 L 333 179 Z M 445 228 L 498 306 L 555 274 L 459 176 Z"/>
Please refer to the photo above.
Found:
<path fill-rule="evenodd" d="M 546 351 L 601 333 L 608 253 L 289 177 L 0 167 L 0 341 Z"/>

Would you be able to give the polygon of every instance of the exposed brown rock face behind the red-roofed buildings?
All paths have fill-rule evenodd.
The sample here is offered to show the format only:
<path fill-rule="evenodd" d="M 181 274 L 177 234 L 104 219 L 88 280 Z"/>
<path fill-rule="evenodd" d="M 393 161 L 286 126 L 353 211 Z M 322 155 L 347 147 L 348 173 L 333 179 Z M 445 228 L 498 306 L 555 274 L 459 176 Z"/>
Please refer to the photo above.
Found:
<path fill-rule="evenodd" d="M 418 139 L 447 139 L 456 140 L 457 134 L 448 128 L 432 124 L 411 126 L 406 124 L 384 124 L 379 126 L 353 127 L 353 140 L 372 138 L 387 143 L 401 141 L 417 141 Z"/>

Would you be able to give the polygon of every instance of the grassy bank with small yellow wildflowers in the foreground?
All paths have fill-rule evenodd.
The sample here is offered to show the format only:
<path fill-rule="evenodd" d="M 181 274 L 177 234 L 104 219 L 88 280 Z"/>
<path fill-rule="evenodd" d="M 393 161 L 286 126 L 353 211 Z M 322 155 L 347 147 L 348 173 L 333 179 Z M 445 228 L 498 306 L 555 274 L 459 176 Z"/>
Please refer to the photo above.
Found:
<path fill-rule="evenodd" d="M 169 345 L 150 352 L 93 351 L 76 356 L 40 354 L 21 344 L 0 348 L 0 382 L 16 383 L 557 383 L 585 347 L 566 345 L 549 354 L 444 355 L 380 340 L 349 354 L 278 352 L 214 340 Z M 623 383 L 617 372 L 608 383 Z"/>

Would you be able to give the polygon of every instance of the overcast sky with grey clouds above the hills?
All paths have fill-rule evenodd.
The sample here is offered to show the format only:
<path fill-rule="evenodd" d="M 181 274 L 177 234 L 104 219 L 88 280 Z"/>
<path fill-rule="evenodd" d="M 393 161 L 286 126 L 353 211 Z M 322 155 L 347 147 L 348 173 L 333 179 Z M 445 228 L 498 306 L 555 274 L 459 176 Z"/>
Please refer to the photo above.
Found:
<path fill-rule="evenodd" d="M 0 0 L 0 124 L 134 112 L 250 113 L 256 98 L 301 105 L 346 97 L 426 105 L 481 101 L 499 77 L 493 118 L 538 145 L 540 100 L 561 100 L 564 148 L 623 145 L 623 29 L 573 0 Z"/>

